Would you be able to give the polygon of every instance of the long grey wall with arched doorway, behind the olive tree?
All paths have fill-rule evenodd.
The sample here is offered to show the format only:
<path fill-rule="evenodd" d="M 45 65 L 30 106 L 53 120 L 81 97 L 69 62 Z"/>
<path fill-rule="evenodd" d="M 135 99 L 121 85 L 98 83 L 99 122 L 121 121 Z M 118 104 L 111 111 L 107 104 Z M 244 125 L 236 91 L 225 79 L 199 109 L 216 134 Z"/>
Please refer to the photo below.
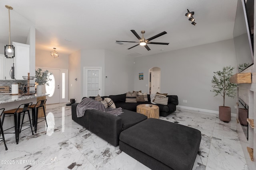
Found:
<path fill-rule="evenodd" d="M 212 76 L 223 66 L 237 68 L 233 39 L 179 49 L 158 55 L 137 57 L 134 69 L 134 89 L 148 92 L 149 69 L 161 69 L 161 92 L 177 95 L 179 105 L 218 111 L 223 104 L 221 96 L 214 97 Z M 138 73 L 144 73 L 144 80 L 138 79 Z M 236 69 L 235 69 L 236 72 Z M 187 103 L 183 103 L 187 100 Z M 226 106 L 234 106 L 236 99 L 226 98 Z"/>

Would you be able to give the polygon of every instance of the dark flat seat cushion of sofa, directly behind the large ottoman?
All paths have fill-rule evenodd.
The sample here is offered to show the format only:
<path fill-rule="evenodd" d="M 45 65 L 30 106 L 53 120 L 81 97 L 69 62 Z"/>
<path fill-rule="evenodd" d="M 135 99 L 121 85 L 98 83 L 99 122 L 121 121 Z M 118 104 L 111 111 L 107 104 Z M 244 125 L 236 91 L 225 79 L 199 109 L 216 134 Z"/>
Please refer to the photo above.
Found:
<path fill-rule="evenodd" d="M 123 109 L 123 111 L 124 113 L 122 113 L 121 115 L 118 115 L 118 117 L 121 117 L 122 119 L 123 130 L 128 129 L 133 125 L 136 125 L 137 123 L 140 123 L 141 121 L 148 119 L 146 115 L 136 113 L 134 111 L 130 111 L 126 109 Z"/>

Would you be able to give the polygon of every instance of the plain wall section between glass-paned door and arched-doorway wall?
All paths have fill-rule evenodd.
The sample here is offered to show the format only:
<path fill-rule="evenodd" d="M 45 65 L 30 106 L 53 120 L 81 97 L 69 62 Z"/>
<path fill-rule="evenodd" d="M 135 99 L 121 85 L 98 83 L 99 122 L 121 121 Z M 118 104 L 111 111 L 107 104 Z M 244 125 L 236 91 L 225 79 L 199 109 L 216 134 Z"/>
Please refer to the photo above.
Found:
<path fill-rule="evenodd" d="M 134 90 L 134 58 L 105 51 L 105 95 Z"/>

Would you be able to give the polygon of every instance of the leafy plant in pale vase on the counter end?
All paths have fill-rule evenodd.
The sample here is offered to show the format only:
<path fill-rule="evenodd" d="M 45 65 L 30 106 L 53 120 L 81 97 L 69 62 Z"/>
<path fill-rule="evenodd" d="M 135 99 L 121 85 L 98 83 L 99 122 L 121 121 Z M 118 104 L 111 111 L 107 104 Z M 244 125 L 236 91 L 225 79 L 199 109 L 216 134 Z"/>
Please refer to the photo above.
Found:
<path fill-rule="evenodd" d="M 42 85 L 46 84 L 49 86 L 48 81 L 52 81 L 50 75 L 52 75 L 52 73 L 48 70 L 42 71 L 42 68 L 36 70 L 35 82 L 38 84 L 36 86 L 36 94 L 42 94 Z"/>

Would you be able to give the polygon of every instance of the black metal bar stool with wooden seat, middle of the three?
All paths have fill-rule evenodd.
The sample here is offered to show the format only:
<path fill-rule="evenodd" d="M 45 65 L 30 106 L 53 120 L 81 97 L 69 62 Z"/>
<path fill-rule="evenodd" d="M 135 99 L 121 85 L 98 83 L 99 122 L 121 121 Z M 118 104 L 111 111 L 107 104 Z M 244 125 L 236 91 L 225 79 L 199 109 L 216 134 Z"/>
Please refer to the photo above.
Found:
<path fill-rule="evenodd" d="M 21 114 L 26 114 L 26 112 L 27 112 L 28 118 L 29 118 L 29 122 L 30 122 L 30 128 L 31 128 L 31 131 L 32 131 L 32 135 L 34 135 L 33 129 L 32 129 L 32 124 L 31 124 L 31 119 L 30 119 L 30 113 L 29 113 L 29 110 L 30 110 L 29 107 L 31 105 L 32 105 L 32 102 L 26 103 L 26 104 L 21 104 L 16 109 L 11 109 L 11 110 L 7 110 L 7 111 L 3 112 L 2 125 L 4 124 L 4 117 L 14 116 L 14 128 L 15 128 L 16 144 L 19 143 L 19 137 L 20 137 L 20 115 Z M 8 116 L 6 116 L 6 115 L 8 115 Z M 13 128 L 13 127 L 11 127 L 11 128 Z M 9 128 L 9 129 L 11 129 L 11 128 Z M 8 130 L 8 129 L 6 129 L 6 130 Z M 4 130 L 4 131 L 6 131 L 6 130 Z"/>

